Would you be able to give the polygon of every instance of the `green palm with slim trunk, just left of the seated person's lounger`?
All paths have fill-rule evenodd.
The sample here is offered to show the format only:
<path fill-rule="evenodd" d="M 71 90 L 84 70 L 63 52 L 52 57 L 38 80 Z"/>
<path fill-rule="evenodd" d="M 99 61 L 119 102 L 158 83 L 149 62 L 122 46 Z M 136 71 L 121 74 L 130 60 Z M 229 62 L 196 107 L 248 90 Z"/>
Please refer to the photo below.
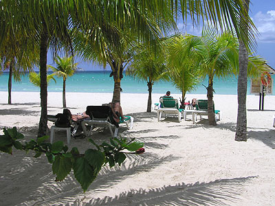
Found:
<path fill-rule="evenodd" d="M 164 60 L 164 52 L 143 50 L 135 55 L 133 62 L 126 69 L 126 74 L 147 81 L 148 86 L 148 103 L 147 112 L 151 112 L 152 108 L 152 90 L 153 84 L 164 79 L 166 65 Z"/>

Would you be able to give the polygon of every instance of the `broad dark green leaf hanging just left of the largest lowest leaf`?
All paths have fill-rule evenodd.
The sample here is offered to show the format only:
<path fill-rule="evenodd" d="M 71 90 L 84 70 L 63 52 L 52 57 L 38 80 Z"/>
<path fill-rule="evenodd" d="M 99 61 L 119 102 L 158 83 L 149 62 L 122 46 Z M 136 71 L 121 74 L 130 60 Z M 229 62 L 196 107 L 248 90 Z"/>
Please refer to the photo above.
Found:
<path fill-rule="evenodd" d="M 52 164 L 52 172 L 56 174 L 56 181 L 63 181 L 67 174 L 71 172 L 72 161 L 63 155 L 57 155 Z"/>

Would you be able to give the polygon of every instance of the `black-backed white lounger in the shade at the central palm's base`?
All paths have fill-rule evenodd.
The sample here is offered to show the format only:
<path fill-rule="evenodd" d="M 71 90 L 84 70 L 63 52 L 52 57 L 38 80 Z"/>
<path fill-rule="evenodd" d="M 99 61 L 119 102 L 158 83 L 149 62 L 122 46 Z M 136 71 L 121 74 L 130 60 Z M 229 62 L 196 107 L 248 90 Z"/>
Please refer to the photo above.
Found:
<path fill-rule="evenodd" d="M 110 106 L 87 106 L 86 113 L 91 117 L 91 119 L 83 120 L 81 123 L 86 137 L 91 135 L 93 129 L 98 126 L 109 128 L 111 137 L 117 137 L 119 124 L 126 124 L 127 128 L 133 127 L 133 117 L 131 116 L 124 116 L 125 119 L 120 119 L 119 123 L 115 122 Z M 91 126 L 89 131 L 87 131 L 86 126 Z"/>

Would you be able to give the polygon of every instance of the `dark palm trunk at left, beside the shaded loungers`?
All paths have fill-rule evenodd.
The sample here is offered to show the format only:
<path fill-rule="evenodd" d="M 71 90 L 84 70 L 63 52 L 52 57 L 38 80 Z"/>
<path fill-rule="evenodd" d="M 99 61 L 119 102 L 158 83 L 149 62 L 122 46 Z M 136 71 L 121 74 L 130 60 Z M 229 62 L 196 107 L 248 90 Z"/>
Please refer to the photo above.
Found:
<path fill-rule="evenodd" d="M 47 43 L 48 33 L 45 23 L 43 23 L 43 34 L 40 43 L 40 98 L 41 98 L 41 117 L 39 121 L 39 131 L 37 137 L 43 137 L 47 132 Z"/>

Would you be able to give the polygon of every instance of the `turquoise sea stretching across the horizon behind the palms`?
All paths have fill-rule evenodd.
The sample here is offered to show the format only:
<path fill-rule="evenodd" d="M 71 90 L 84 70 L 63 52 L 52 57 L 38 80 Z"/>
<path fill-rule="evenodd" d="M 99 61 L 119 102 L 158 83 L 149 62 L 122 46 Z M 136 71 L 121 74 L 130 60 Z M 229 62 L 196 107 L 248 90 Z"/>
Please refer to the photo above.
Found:
<path fill-rule="evenodd" d="M 111 71 L 77 71 L 74 76 L 67 78 L 66 92 L 94 92 L 94 93 L 112 93 L 113 78 L 109 77 Z M 272 77 L 274 78 L 274 77 Z M 206 94 L 206 88 L 203 85 L 208 84 L 208 80 L 203 80 L 195 91 L 190 93 Z M 136 80 L 126 76 L 121 81 L 123 93 L 148 93 L 146 82 Z M 56 83 L 52 80 L 48 86 L 49 92 L 62 92 L 63 80 L 56 77 Z M 170 90 L 171 93 L 180 93 L 170 82 L 155 82 L 153 93 L 165 93 Z M 8 72 L 0 75 L 0 91 L 8 91 Z M 39 87 L 34 87 L 28 76 L 23 76 L 21 82 L 12 82 L 12 91 L 39 91 Z M 214 79 L 214 91 L 216 94 L 236 94 L 237 78 Z M 250 80 L 248 82 L 248 94 L 250 94 Z M 273 90 L 272 95 L 275 95 Z"/>

